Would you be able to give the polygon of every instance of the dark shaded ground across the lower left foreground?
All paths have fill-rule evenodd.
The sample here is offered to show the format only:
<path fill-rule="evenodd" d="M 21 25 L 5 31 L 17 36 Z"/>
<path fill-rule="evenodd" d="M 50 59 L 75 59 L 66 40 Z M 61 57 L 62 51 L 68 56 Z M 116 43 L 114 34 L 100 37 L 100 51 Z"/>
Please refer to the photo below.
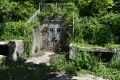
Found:
<path fill-rule="evenodd" d="M 53 72 L 53 73 L 52 73 Z M 65 74 L 68 74 L 67 72 Z M 12 61 L 6 59 L 0 65 L 0 80 L 72 80 L 72 75 L 62 75 L 54 72 L 46 64 L 25 63 L 19 59 Z"/>

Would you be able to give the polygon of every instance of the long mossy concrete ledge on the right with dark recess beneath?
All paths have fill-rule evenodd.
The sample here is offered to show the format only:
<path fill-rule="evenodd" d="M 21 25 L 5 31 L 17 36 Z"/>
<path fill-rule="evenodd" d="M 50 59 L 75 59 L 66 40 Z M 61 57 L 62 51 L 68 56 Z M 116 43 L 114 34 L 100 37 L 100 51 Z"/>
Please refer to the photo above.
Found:
<path fill-rule="evenodd" d="M 114 54 L 117 54 L 116 58 L 120 57 L 119 50 L 116 48 L 105 48 L 105 47 L 78 47 L 75 43 L 70 43 L 69 45 L 69 58 L 75 59 L 75 53 L 81 51 L 87 51 L 94 53 L 97 57 L 106 58 L 105 61 L 109 61 Z"/>

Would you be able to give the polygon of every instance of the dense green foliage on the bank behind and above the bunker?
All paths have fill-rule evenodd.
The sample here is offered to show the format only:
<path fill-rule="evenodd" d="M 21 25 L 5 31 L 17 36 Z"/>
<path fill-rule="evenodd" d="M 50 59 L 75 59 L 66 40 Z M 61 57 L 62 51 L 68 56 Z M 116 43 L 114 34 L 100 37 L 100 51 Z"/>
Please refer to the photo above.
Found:
<path fill-rule="evenodd" d="M 26 33 L 30 33 L 32 26 L 26 25 L 28 19 L 32 14 L 35 13 L 38 2 L 56 2 L 52 1 L 19 1 L 19 0 L 4 0 L 0 2 L 0 22 L 5 24 L 5 28 L 0 32 L 1 40 L 9 40 L 9 39 L 24 39 Z M 59 0 L 57 2 L 65 2 L 63 0 Z M 119 8 L 119 2 L 113 2 L 112 0 L 78 0 L 73 1 L 70 0 L 68 5 L 64 9 L 57 9 L 55 5 L 51 5 L 51 12 L 44 12 L 44 10 L 40 13 L 41 16 L 47 15 L 55 15 L 62 14 L 65 17 L 65 27 L 67 27 L 73 19 L 75 19 L 75 34 L 74 37 L 71 34 L 71 30 L 69 29 L 69 37 L 70 42 L 81 42 L 87 43 L 91 45 L 100 45 L 105 46 L 108 43 L 119 44 L 119 10 L 117 10 L 117 6 Z M 116 7 L 115 7 L 116 6 Z M 114 10 L 115 9 L 115 10 Z M 9 35 L 13 35 L 13 30 L 10 26 L 19 27 L 15 29 L 17 34 L 14 34 L 14 37 Z M 17 24 L 17 25 L 16 25 Z M 25 28 L 23 26 L 26 26 Z M 8 29 L 7 29 L 8 28 Z M 25 31 L 21 31 L 21 30 Z M 9 30 L 8 32 L 4 30 Z M 28 30 L 27 30 L 28 29 Z M 15 33 L 14 32 L 14 33 Z M 8 35 L 9 34 L 9 35 Z M 27 34 L 27 35 L 28 35 Z M 104 34 L 104 35 L 103 35 Z M 30 39 L 30 38 L 29 38 Z M 28 40 L 28 39 L 27 39 Z"/>

